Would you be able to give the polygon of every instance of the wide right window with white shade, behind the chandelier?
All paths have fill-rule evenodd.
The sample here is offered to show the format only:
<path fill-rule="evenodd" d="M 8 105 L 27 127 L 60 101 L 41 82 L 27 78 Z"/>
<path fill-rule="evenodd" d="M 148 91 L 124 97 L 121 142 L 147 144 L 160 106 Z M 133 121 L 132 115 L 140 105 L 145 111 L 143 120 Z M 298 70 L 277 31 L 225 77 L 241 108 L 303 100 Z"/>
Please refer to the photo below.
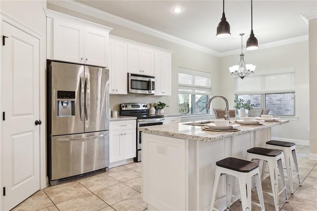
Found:
<path fill-rule="evenodd" d="M 269 114 L 294 116 L 294 71 L 294 67 L 289 67 L 248 76 L 243 80 L 235 78 L 235 95 L 245 101 L 250 100 L 255 107 L 269 109 Z"/>

